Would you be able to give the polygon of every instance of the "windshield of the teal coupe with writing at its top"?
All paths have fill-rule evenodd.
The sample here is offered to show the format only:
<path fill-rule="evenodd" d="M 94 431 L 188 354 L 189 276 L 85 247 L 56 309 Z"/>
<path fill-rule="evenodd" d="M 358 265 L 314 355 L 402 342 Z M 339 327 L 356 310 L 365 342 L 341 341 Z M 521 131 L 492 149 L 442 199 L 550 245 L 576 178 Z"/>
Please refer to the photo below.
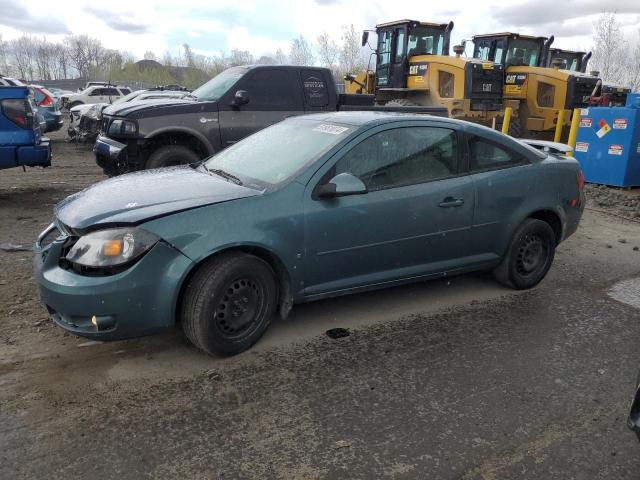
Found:
<path fill-rule="evenodd" d="M 295 177 L 355 127 L 301 118 L 285 120 L 222 150 L 204 163 L 258 189 L 274 187 Z"/>

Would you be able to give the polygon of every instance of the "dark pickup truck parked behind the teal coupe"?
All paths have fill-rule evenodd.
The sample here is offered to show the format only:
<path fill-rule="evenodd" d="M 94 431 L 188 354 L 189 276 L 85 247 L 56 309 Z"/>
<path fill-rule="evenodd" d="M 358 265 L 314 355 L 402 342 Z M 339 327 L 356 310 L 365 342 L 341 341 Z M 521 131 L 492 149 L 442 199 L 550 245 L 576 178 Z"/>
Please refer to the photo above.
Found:
<path fill-rule="evenodd" d="M 336 110 L 447 115 L 446 108 L 384 107 L 373 95 L 339 95 L 325 68 L 233 67 L 184 99 L 107 107 L 93 151 L 109 176 L 194 163 L 286 117 Z"/>

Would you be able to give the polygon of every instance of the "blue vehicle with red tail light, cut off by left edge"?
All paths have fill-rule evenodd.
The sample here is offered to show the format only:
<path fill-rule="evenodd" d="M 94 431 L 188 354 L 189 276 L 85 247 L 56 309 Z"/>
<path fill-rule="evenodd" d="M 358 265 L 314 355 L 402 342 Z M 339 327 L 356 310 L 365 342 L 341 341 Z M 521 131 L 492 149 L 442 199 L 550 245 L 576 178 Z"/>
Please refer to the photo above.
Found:
<path fill-rule="evenodd" d="M 42 136 L 29 89 L 0 86 L 0 169 L 49 165 L 51 146 Z"/>

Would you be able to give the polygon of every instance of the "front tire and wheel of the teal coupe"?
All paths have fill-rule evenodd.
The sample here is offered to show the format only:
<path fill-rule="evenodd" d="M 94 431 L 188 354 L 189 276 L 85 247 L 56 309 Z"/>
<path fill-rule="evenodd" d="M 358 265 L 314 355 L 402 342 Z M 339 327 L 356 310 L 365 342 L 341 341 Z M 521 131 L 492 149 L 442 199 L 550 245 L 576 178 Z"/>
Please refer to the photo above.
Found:
<path fill-rule="evenodd" d="M 262 337 L 277 298 L 275 275 L 266 262 L 244 253 L 223 254 L 191 277 L 182 301 L 182 328 L 205 352 L 236 355 Z"/>

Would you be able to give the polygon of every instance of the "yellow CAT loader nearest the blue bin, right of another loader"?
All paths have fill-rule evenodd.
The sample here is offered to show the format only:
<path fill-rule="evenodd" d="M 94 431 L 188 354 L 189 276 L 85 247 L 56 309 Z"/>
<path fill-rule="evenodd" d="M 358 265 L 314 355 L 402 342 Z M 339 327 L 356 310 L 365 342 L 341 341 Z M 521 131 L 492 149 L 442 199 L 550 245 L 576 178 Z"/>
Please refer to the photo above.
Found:
<path fill-rule="evenodd" d="M 550 138 L 560 111 L 562 124 L 570 125 L 574 108 L 586 107 L 602 84 L 599 78 L 579 70 L 564 70 L 549 58 L 554 37 L 518 33 L 493 33 L 473 37 L 473 56 L 505 68 L 504 107 L 513 108 L 509 134 Z M 586 63 L 585 63 L 586 68 Z"/>

